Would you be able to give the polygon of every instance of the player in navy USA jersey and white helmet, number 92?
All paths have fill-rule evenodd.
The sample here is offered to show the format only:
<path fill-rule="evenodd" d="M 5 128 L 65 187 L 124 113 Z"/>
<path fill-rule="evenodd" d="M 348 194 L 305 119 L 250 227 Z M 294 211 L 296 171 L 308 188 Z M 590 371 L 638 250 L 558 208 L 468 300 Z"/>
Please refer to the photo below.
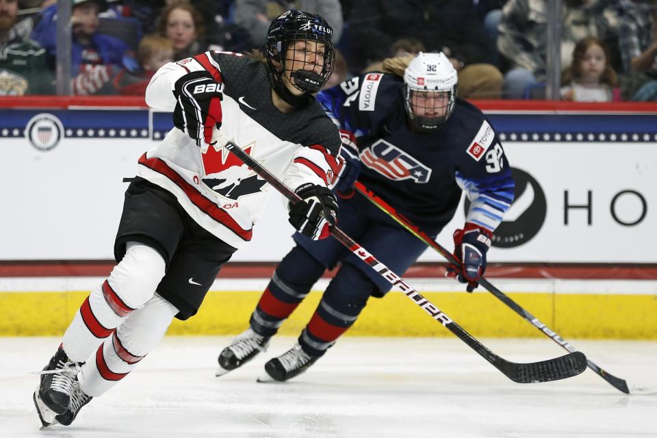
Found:
<path fill-rule="evenodd" d="M 465 191 L 472 205 L 454 233 L 454 256 L 463 265 L 449 272 L 472 292 L 486 269 L 493 231 L 513 201 L 511 168 L 482 112 L 456 99 L 456 70 L 443 53 L 420 53 L 405 70 L 399 63 L 392 59 L 387 67 L 397 75 L 366 73 L 318 95 L 343 138 L 339 226 L 401 275 L 426 246 L 355 193 L 355 179 L 432 237 L 454 216 Z M 307 370 L 354 324 L 370 296 L 382 297 L 391 287 L 337 240 L 313 242 L 298 233 L 294 240 L 249 329 L 219 355 L 218 376 L 264 350 L 326 268 L 342 263 L 298 344 L 268 361 L 259 381 L 287 381 Z"/>

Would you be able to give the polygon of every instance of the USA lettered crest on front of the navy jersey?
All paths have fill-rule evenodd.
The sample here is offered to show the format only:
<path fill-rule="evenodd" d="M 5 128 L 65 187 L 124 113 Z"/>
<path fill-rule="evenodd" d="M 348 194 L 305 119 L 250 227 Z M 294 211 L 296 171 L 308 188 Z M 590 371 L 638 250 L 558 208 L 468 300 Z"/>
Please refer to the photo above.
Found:
<path fill-rule="evenodd" d="M 424 184 L 431 177 L 430 168 L 383 139 L 362 151 L 360 157 L 365 166 L 393 181 L 413 179 Z"/>

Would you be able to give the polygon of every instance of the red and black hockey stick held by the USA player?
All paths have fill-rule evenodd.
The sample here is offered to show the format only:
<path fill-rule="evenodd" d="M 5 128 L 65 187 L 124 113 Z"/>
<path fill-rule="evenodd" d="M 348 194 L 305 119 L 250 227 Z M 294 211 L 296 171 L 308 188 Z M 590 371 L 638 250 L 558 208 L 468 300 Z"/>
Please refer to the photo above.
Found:
<path fill-rule="evenodd" d="M 407 229 L 411 234 L 415 235 L 418 239 L 422 240 L 425 244 L 430 246 L 431 248 L 437 250 L 443 257 L 445 257 L 450 263 L 454 263 L 456 266 L 460 266 L 461 263 L 454 259 L 454 256 L 452 253 L 450 253 L 448 250 L 443 248 L 438 242 L 433 240 L 429 235 L 424 233 L 422 230 L 417 228 L 413 223 L 411 223 L 410 220 L 407 218 L 404 218 L 402 214 L 399 214 L 395 209 L 383 201 L 383 199 L 379 198 L 374 194 L 374 192 L 368 190 L 368 188 L 363 185 L 363 183 L 357 181 L 355 183 L 355 188 L 357 192 L 365 196 L 369 201 L 371 201 L 376 207 L 381 209 L 383 212 L 385 212 L 388 216 L 396 220 L 398 224 L 400 224 L 402 227 Z M 491 283 L 485 279 L 484 277 L 481 277 L 479 283 L 488 289 L 491 294 L 493 294 L 495 297 L 499 298 L 504 304 L 506 304 L 508 307 L 511 307 L 521 317 L 525 318 L 532 326 L 536 327 L 543 333 L 545 336 L 549 337 L 552 339 L 554 342 L 565 348 L 565 350 L 569 352 L 576 352 L 575 348 L 571 346 L 568 342 L 566 342 L 561 336 L 556 334 L 556 332 L 550 330 L 548 326 L 543 324 L 543 322 L 539 321 L 538 318 L 536 318 L 534 315 L 520 307 L 517 302 L 506 296 L 504 292 L 500 291 L 497 287 L 491 285 Z M 591 360 L 587 359 L 587 365 L 591 370 L 593 370 L 595 373 L 597 373 L 600 377 L 604 378 L 604 380 L 608 381 L 613 387 L 618 389 L 619 391 L 622 391 L 626 394 L 630 394 L 630 390 L 628 389 L 628 384 L 626 381 L 624 381 L 622 378 L 618 378 L 616 376 L 613 376 L 612 374 L 609 374 L 599 366 L 595 365 Z"/>

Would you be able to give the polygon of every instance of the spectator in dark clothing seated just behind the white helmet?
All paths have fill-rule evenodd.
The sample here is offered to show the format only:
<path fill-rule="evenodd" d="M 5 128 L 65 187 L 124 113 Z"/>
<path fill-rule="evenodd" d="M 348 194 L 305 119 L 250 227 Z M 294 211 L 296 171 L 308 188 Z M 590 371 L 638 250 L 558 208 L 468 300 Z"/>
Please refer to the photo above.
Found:
<path fill-rule="evenodd" d="M 487 36 L 472 1 L 361 0 L 352 5 L 350 67 L 365 66 L 392 55 L 400 38 L 415 38 L 426 51 L 442 51 L 459 72 L 459 96 L 499 98 L 502 73 L 489 64 Z"/>

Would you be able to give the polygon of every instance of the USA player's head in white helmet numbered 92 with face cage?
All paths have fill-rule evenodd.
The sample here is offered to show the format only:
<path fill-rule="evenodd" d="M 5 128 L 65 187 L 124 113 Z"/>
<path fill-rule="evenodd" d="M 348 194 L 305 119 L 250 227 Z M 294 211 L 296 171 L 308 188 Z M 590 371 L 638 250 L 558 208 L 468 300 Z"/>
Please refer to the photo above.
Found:
<path fill-rule="evenodd" d="M 406 112 L 421 131 L 435 131 L 450 118 L 458 75 L 444 53 L 418 53 L 404 71 Z"/>

